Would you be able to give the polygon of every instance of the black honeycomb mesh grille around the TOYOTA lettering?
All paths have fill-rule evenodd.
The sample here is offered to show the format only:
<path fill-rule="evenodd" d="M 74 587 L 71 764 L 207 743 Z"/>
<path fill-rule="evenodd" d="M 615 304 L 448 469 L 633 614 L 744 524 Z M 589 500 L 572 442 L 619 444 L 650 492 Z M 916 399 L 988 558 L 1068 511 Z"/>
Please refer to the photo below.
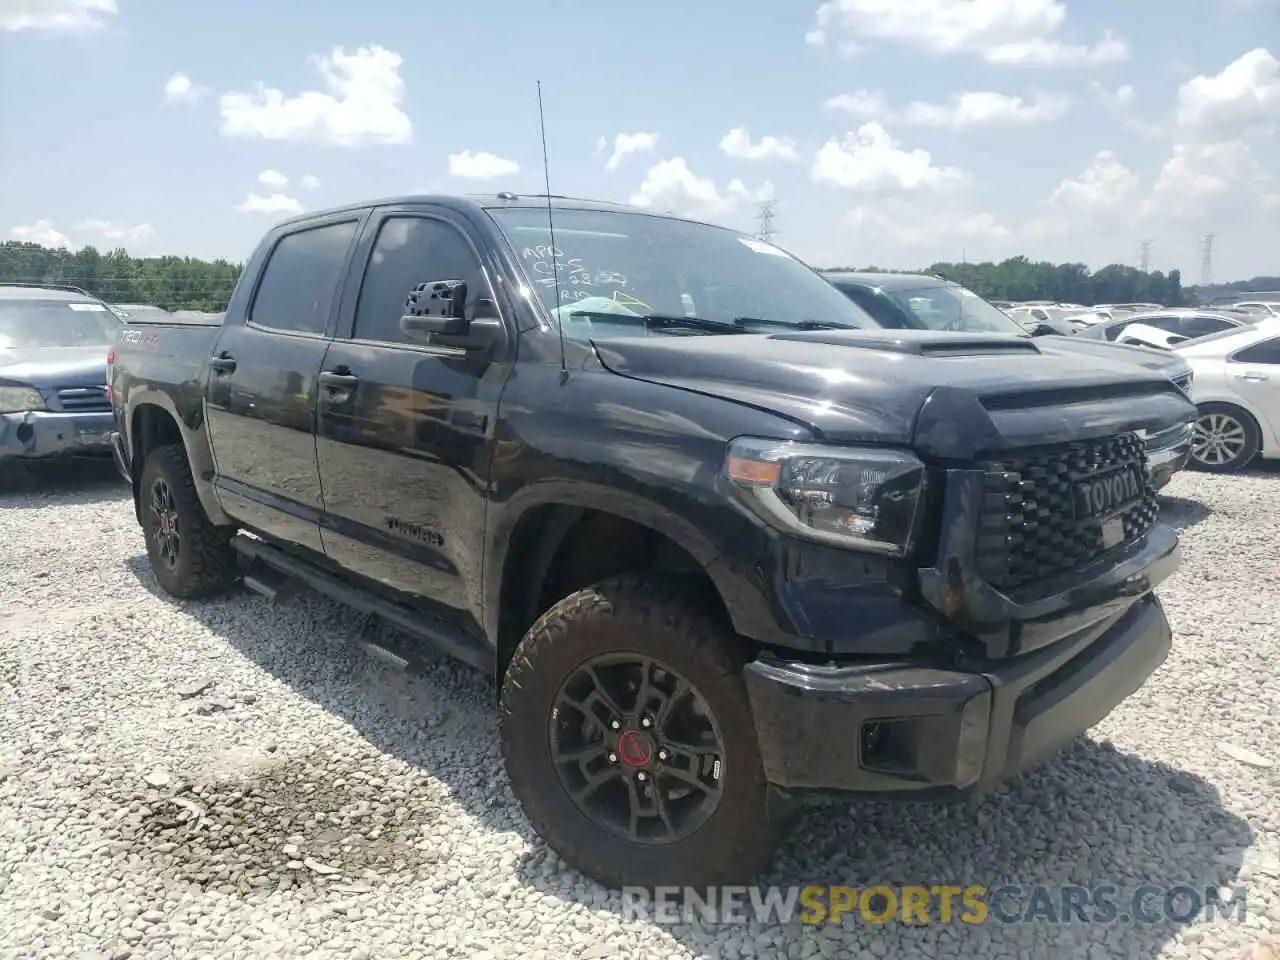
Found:
<path fill-rule="evenodd" d="M 1139 495 L 1110 515 L 1076 516 L 1075 484 L 1125 466 L 1139 470 Z M 1157 515 L 1144 444 L 1137 434 L 1041 448 L 987 463 L 978 572 L 992 586 L 1015 589 L 1078 570 L 1146 535 Z"/>

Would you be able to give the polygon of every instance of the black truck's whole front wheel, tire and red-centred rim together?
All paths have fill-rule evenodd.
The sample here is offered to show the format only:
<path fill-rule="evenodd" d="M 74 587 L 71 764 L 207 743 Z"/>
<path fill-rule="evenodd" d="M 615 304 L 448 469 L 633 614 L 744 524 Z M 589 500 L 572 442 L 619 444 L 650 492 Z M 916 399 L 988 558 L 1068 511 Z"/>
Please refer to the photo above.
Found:
<path fill-rule="evenodd" d="M 736 637 L 677 586 L 618 579 L 552 607 L 512 658 L 500 731 L 534 828 L 607 887 L 746 883 L 785 836 Z"/>

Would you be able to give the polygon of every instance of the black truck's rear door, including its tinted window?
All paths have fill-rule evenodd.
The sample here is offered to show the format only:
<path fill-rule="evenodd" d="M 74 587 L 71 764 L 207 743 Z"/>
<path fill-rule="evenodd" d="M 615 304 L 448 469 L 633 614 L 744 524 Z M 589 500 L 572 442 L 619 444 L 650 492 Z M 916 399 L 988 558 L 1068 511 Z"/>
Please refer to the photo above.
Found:
<path fill-rule="evenodd" d="M 265 255 L 243 323 L 214 346 L 205 388 L 228 513 L 262 534 L 321 550 L 316 375 L 362 214 L 307 221 Z"/>

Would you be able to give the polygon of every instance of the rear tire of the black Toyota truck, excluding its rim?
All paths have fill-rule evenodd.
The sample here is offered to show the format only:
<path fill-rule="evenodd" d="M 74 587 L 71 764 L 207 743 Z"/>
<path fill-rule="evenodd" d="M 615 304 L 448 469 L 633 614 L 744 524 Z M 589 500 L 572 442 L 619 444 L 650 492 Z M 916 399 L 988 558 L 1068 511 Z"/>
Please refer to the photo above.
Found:
<path fill-rule="evenodd" d="M 156 517 L 151 509 L 151 488 L 157 479 L 168 483 L 178 515 L 180 539 L 174 567 L 168 566 L 159 553 Z M 196 494 L 196 481 L 182 444 L 156 447 L 147 454 L 138 483 L 138 498 L 147 558 L 156 581 L 166 594 L 193 600 L 223 593 L 237 581 L 239 566 L 230 544 L 236 529 L 215 526 L 209 521 Z"/>

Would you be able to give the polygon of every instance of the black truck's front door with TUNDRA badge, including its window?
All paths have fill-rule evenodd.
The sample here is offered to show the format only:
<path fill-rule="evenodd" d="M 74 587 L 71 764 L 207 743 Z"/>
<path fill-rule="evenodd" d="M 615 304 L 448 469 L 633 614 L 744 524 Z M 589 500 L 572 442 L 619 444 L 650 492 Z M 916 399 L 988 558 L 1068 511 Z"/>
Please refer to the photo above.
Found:
<path fill-rule="evenodd" d="M 489 282 L 465 225 L 420 206 L 375 214 L 353 275 L 361 265 L 320 374 L 325 553 L 475 627 L 506 367 L 410 340 L 399 320 L 416 284 L 465 280 L 474 310 Z"/>

